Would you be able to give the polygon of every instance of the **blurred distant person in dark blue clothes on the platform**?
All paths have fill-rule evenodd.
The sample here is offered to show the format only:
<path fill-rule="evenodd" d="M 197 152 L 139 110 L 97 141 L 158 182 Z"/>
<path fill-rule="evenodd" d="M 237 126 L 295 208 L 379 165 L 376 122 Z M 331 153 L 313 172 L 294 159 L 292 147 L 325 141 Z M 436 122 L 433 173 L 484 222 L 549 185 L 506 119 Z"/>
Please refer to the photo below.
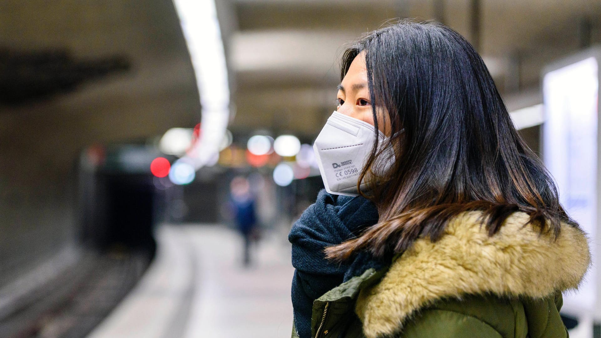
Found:
<path fill-rule="evenodd" d="M 249 266 L 251 264 L 251 241 L 255 238 L 257 231 L 255 198 L 252 195 L 248 179 L 243 176 L 236 176 L 231 180 L 230 193 L 234 220 L 244 241 L 242 262 L 244 266 Z"/>

